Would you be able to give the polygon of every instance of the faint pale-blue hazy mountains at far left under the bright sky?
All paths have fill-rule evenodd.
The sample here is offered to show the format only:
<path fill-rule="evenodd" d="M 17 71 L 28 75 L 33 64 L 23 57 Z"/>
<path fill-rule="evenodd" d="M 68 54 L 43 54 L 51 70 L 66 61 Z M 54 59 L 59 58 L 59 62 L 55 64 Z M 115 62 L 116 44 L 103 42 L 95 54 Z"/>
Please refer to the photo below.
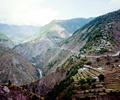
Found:
<path fill-rule="evenodd" d="M 28 41 L 34 37 L 40 27 L 30 25 L 10 25 L 0 23 L 0 33 L 5 33 L 15 44 Z M 32 37 L 32 38 L 31 38 Z M 28 39 L 29 38 L 29 39 Z"/>

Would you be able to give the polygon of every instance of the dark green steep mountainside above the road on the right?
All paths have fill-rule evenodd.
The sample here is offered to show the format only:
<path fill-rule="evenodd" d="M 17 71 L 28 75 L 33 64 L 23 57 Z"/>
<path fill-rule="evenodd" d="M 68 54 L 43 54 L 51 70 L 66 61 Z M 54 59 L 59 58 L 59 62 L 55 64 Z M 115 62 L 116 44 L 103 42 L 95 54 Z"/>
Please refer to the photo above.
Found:
<path fill-rule="evenodd" d="M 120 10 L 97 17 L 80 28 L 64 42 L 63 48 L 101 54 L 118 50 L 119 43 Z"/>

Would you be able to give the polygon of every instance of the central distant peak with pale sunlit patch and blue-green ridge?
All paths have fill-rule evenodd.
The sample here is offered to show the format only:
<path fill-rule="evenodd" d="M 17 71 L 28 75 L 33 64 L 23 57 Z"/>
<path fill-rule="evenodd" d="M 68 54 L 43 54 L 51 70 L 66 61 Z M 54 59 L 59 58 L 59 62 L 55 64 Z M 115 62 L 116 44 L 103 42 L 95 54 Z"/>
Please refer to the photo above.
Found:
<path fill-rule="evenodd" d="M 69 20 L 53 20 L 43 26 L 39 32 L 40 37 L 49 38 L 53 43 L 60 42 L 72 35 L 80 27 L 90 22 L 93 18 L 75 18 Z"/>

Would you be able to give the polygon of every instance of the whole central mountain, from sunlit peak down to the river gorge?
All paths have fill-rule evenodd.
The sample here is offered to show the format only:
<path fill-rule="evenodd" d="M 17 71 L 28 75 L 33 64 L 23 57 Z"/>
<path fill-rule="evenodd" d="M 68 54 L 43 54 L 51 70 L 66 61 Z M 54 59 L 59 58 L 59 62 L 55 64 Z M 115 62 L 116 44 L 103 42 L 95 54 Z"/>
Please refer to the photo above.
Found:
<path fill-rule="evenodd" d="M 54 20 L 41 27 L 36 39 L 15 46 L 14 50 L 38 67 L 45 69 L 44 66 L 50 65 L 52 59 L 56 62 L 56 57 L 60 55 L 60 52 L 64 51 L 59 47 L 59 42 L 71 36 L 74 31 L 92 19 L 93 18 L 76 18 L 70 20 Z M 67 57 L 67 52 L 69 53 L 69 51 L 66 50 L 58 61 L 64 59 L 65 56 Z M 48 68 L 46 70 L 48 70 Z"/>

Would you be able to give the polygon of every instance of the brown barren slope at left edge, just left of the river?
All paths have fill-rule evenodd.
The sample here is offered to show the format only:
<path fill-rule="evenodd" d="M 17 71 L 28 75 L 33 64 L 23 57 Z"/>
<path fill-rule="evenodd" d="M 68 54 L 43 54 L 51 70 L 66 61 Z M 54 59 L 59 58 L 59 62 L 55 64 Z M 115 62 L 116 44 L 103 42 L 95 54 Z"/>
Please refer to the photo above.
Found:
<path fill-rule="evenodd" d="M 0 83 L 21 85 L 30 83 L 36 79 L 37 69 L 33 67 L 26 59 L 8 48 L 0 46 Z"/>

